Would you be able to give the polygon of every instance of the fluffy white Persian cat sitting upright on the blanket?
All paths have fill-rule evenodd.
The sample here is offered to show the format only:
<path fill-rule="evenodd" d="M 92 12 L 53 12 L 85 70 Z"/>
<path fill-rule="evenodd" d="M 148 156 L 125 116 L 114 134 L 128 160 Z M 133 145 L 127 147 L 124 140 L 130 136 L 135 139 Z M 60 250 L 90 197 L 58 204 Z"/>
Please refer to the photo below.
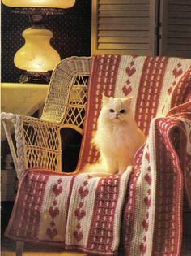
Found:
<path fill-rule="evenodd" d="M 92 143 L 100 150 L 98 163 L 87 164 L 83 171 L 103 174 L 121 173 L 131 165 L 134 154 L 146 137 L 134 121 L 132 97 L 112 98 L 103 95 L 98 127 Z"/>

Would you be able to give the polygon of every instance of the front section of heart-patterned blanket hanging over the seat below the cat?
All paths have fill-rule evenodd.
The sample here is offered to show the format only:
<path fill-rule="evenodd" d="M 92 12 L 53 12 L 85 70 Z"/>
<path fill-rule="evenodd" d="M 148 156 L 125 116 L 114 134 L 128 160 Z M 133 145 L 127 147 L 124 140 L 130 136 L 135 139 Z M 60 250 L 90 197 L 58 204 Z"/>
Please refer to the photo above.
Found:
<path fill-rule="evenodd" d="M 6 235 L 65 249 L 116 254 L 129 173 L 100 178 L 26 171 Z"/>

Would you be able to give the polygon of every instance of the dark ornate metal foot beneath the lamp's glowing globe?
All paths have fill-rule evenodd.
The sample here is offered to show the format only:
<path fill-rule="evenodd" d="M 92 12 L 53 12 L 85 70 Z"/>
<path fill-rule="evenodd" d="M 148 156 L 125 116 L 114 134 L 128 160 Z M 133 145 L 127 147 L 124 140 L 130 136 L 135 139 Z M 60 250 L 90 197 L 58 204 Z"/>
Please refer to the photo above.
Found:
<path fill-rule="evenodd" d="M 49 84 L 49 72 L 25 72 L 19 77 L 19 83 Z"/>

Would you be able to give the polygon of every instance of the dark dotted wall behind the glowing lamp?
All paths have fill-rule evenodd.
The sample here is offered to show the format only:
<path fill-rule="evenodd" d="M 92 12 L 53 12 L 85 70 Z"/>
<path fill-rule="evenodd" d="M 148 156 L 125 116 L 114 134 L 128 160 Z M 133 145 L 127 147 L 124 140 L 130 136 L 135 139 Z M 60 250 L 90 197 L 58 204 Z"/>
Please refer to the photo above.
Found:
<path fill-rule="evenodd" d="M 2 82 L 18 82 L 23 73 L 13 59 L 24 44 L 23 30 L 30 26 L 28 15 L 15 14 L 2 4 Z M 91 54 L 91 0 L 76 0 L 64 15 L 49 15 L 46 27 L 53 32 L 51 45 L 61 59 Z"/>

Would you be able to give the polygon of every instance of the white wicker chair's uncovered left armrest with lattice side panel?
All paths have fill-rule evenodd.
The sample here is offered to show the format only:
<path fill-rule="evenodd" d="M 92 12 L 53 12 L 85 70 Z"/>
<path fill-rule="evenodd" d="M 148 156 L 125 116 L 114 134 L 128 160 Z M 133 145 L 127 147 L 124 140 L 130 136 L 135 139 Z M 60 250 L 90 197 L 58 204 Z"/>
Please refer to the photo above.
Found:
<path fill-rule="evenodd" d="M 61 171 L 59 124 L 6 112 L 2 112 L 1 119 L 18 176 L 31 167 Z M 15 129 L 16 152 L 8 125 L 10 122 Z"/>

